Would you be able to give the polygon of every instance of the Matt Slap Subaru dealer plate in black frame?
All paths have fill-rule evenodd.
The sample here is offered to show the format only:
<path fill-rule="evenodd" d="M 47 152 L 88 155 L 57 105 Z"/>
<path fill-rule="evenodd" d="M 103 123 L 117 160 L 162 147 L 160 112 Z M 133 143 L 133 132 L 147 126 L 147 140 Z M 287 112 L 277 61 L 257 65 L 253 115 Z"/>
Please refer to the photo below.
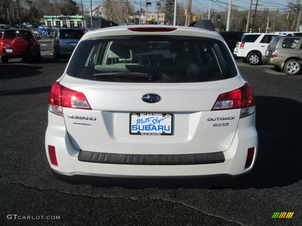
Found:
<path fill-rule="evenodd" d="M 171 113 L 130 113 L 129 133 L 131 135 L 172 135 L 173 114 Z"/>

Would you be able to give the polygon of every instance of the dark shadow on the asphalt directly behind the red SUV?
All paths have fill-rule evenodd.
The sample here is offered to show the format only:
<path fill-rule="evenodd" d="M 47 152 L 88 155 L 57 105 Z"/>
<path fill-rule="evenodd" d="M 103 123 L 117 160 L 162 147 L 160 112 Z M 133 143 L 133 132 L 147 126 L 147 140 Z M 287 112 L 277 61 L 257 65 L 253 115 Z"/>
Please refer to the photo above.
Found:
<path fill-rule="evenodd" d="M 42 67 L 16 64 L 19 62 L 8 62 L 7 64 L 0 64 L 0 80 L 1 79 L 12 79 L 21 77 L 30 77 L 42 74 L 40 69 Z"/>

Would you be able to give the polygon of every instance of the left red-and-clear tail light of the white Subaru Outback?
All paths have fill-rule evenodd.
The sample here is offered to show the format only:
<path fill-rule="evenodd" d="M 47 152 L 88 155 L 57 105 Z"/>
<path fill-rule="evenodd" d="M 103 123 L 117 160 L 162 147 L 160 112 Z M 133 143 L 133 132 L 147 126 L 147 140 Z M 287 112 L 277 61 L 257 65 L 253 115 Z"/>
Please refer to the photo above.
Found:
<path fill-rule="evenodd" d="M 63 107 L 91 110 L 84 93 L 68 89 L 55 82 L 50 91 L 48 110 L 63 116 Z"/>

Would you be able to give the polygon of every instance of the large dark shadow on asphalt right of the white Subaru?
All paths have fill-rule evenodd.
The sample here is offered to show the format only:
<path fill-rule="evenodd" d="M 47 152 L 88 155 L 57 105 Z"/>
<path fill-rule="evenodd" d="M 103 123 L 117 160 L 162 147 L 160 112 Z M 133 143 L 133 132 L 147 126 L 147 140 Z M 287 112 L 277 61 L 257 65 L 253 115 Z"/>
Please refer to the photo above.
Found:
<path fill-rule="evenodd" d="M 256 96 L 258 155 L 241 188 L 284 187 L 302 178 L 302 103 L 293 99 Z"/>

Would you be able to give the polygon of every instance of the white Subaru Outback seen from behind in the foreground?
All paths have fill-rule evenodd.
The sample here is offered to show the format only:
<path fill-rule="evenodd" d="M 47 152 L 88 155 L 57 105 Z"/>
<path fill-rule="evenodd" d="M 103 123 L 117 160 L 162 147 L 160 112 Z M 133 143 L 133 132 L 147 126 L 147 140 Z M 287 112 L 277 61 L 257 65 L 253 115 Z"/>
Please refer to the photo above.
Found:
<path fill-rule="evenodd" d="M 254 92 L 215 31 L 87 32 L 53 84 L 48 110 L 47 159 L 69 182 L 232 184 L 256 159 Z"/>

